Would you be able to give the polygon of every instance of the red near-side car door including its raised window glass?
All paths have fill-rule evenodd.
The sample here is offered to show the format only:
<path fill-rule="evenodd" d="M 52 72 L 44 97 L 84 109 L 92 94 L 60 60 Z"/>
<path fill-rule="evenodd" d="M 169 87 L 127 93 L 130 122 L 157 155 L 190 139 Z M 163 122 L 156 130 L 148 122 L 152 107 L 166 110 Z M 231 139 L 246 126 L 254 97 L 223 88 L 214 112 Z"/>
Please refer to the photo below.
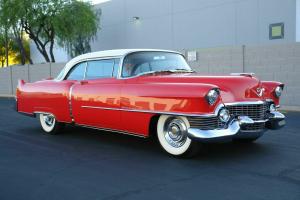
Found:
<path fill-rule="evenodd" d="M 71 114 L 76 124 L 119 129 L 120 90 L 116 78 L 119 59 L 87 61 L 84 80 L 71 89 Z"/>

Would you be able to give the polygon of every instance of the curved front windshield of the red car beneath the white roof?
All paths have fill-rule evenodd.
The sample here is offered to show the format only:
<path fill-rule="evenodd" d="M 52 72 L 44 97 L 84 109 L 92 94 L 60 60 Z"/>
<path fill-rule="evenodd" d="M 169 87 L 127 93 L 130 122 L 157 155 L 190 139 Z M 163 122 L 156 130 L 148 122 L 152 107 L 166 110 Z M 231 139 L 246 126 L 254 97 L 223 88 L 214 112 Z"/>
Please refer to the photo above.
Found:
<path fill-rule="evenodd" d="M 157 72 L 192 72 L 184 57 L 171 52 L 136 52 L 127 55 L 123 62 L 122 77 Z"/>

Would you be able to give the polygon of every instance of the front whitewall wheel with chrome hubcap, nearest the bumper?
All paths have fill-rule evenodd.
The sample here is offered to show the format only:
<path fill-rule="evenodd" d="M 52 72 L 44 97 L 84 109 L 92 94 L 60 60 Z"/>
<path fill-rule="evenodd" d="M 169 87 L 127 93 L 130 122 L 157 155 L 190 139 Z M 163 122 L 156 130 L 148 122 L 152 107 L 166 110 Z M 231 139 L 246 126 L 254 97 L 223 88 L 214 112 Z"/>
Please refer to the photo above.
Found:
<path fill-rule="evenodd" d="M 189 121 L 182 116 L 162 115 L 157 122 L 157 136 L 162 148 L 173 156 L 191 157 L 197 154 L 199 144 L 187 137 Z"/>

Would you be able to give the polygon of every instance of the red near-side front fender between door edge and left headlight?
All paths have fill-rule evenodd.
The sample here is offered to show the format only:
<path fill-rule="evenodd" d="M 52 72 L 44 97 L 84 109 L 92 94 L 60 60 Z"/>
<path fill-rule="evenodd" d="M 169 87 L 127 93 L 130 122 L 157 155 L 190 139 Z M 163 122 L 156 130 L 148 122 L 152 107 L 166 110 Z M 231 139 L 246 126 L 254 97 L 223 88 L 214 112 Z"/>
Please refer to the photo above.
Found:
<path fill-rule="evenodd" d="M 127 84 L 122 89 L 121 107 L 183 115 L 214 113 L 221 99 L 210 106 L 205 98 L 213 88 L 218 87 L 199 83 Z"/>

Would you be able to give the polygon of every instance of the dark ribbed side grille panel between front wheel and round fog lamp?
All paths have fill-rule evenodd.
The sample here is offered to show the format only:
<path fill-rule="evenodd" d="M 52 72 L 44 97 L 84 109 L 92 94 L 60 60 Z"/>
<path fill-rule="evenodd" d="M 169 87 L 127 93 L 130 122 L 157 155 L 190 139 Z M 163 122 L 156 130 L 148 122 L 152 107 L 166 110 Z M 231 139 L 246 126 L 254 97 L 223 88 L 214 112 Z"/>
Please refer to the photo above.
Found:
<path fill-rule="evenodd" d="M 188 117 L 188 121 L 191 128 L 199 128 L 201 130 L 213 130 L 224 126 L 218 117 Z"/>

